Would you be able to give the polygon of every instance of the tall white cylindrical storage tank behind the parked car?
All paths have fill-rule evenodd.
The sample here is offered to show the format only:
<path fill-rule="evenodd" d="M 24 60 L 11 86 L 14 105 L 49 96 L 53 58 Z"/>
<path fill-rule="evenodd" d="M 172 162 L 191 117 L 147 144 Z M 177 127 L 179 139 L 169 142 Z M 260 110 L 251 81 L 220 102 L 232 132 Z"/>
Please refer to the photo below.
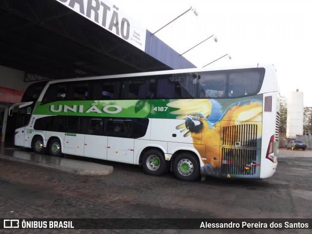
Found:
<path fill-rule="evenodd" d="M 291 92 L 287 103 L 286 137 L 303 135 L 303 92 Z"/>

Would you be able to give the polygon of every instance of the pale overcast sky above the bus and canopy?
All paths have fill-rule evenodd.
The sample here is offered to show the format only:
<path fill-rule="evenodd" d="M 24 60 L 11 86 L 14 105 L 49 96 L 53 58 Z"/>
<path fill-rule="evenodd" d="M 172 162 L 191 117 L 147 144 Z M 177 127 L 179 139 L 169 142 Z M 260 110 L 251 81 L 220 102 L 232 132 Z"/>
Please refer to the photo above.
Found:
<path fill-rule="evenodd" d="M 273 64 L 281 96 L 303 92 L 312 107 L 311 0 L 111 0 L 150 32 L 189 11 L 155 35 L 197 67 Z"/>

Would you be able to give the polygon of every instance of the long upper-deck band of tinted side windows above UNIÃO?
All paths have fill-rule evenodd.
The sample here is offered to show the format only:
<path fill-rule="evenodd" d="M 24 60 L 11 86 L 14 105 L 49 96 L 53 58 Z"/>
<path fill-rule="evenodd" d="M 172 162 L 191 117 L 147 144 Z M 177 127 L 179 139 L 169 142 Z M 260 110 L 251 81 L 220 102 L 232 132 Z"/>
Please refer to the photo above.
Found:
<path fill-rule="evenodd" d="M 58 100 L 238 98 L 256 95 L 264 68 L 177 73 L 51 84 L 42 103 Z"/>

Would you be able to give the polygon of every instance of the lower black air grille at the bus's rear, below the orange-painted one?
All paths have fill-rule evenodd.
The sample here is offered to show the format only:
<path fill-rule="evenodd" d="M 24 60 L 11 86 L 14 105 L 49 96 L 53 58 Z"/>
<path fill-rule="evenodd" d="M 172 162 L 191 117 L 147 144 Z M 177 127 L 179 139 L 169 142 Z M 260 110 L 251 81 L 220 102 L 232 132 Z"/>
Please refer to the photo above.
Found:
<path fill-rule="evenodd" d="M 256 173 L 256 155 L 254 149 L 222 148 L 223 175 L 253 176 Z M 245 167 L 248 167 L 247 170 Z"/>

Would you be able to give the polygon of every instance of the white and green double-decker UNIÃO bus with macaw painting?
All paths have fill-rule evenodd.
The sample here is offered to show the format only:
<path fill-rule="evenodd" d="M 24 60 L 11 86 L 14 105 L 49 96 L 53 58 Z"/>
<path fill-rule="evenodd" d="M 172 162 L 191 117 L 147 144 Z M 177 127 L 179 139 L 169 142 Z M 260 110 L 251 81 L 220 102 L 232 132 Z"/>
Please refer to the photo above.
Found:
<path fill-rule="evenodd" d="M 277 166 L 279 87 L 273 65 L 195 68 L 47 82 L 15 145 L 173 171 L 267 178 Z"/>

